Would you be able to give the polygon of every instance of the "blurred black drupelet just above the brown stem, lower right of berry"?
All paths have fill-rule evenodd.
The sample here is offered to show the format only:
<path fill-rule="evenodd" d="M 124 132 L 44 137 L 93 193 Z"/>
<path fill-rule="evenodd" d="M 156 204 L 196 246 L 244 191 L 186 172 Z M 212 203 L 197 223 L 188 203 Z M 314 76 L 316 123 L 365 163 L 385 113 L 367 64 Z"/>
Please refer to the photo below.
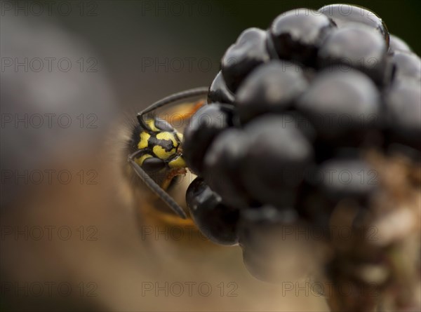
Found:
<path fill-rule="evenodd" d="M 329 237 L 330 217 L 338 203 L 352 200 L 367 205 L 378 184 L 377 171 L 361 158 L 360 149 L 338 149 L 327 161 L 309 170 L 295 208 Z"/>

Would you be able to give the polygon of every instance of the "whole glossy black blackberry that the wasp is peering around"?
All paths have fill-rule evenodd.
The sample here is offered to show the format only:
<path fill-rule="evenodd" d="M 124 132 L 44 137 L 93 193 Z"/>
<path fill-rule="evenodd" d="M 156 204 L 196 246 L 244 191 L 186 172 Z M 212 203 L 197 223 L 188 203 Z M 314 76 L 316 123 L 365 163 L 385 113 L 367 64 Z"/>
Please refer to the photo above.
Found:
<path fill-rule="evenodd" d="M 420 64 L 380 17 L 357 6 L 300 8 L 267 30 L 246 29 L 222 57 L 208 104 L 185 129 L 183 154 L 199 176 L 187 204 L 199 229 L 211 229 L 216 243 L 238 241 L 250 272 L 273 282 L 285 273 L 279 254 L 294 249 L 279 239 L 285 226 L 325 232 L 337 222 L 366 235 L 366 227 L 413 207 L 421 180 Z M 343 264 L 338 277 L 325 272 L 336 286 L 341 278 L 371 283 L 361 273 L 366 259 L 393 269 L 388 248 L 398 240 L 380 246 L 364 235 L 349 242 L 325 236 L 333 258 L 326 266 Z M 342 304 L 338 311 L 347 310 Z"/>

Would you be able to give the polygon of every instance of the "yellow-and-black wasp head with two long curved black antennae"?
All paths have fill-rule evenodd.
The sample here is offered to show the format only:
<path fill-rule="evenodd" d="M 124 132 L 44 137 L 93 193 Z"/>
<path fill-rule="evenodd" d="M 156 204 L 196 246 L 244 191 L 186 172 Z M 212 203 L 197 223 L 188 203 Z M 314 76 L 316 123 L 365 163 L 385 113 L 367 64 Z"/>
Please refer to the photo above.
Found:
<path fill-rule="evenodd" d="M 182 156 L 182 134 L 171 123 L 159 118 L 156 110 L 180 101 L 189 102 L 194 97 L 206 97 L 207 94 L 208 88 L 205 87 L 169 95 L 140 111 L 137 115 L 138 126 L 133 130 L 128 162 L 149 189 L 182 219 L 187 218 L 185 211 L 165 191 L 174 177 L 186 172 L 187 165 Z M 196 101 L 192 113 L 204 102 Z M 156 179 L 157 173 L 160 179 Z"/>

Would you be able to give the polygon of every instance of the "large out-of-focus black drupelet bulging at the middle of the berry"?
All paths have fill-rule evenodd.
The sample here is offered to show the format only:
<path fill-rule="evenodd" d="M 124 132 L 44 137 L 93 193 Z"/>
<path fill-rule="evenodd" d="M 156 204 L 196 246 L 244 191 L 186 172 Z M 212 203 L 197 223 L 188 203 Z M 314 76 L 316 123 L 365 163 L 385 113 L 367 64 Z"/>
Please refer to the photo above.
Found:
<path fill-rule="evenodd" d="M 260 116 L 244 130 L 250 141 L 241 177 L 248 193 L 260 203 L 293 205 L 312 163 L 312 145 L 282 116 Z"/>

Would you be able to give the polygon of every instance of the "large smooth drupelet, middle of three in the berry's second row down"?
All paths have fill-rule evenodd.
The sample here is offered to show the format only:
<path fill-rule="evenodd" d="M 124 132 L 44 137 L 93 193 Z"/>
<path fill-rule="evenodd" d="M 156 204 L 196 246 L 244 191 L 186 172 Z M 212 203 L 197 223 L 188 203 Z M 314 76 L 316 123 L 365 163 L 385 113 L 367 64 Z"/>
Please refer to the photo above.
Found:
<path fill-rule="evenodd" d="M 380 94 L 368 76 L 356 71 L 325 69 L 298 100 L 297 107 L 323 140 L 358 144 L 376 126 Z"/>

